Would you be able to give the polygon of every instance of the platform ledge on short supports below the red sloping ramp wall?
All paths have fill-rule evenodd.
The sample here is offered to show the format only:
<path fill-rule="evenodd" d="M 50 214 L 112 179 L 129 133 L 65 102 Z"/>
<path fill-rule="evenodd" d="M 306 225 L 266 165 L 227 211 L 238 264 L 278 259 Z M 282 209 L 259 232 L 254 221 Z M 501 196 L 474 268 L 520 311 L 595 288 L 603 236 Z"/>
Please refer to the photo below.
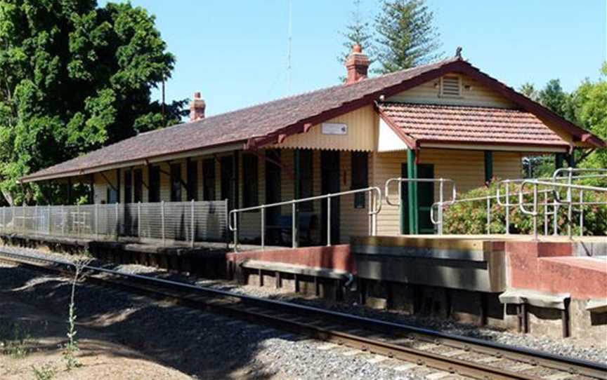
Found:
<path fill-rule="evenodd" d="M 264 262 L 248 259 L 241 262 L 240 267 L 257 271 L 259 274 L 259 286 L 263 286 L 263 272 L 273 272 L 277 289 L 282 287 L 282 273 L 292 274 L 295 281 L 295 292 L 299 292 L 299 280 L 301 280 L 301 277 L 311 277 L 314 280 L 314 289 L 317 297 L 320 296 L 319 278 L 334 281 L 336 299 L 341 299 L 341 285 L 350 283 L 353 280 L 352 274 L 348 271 L 281 262 Z"/>

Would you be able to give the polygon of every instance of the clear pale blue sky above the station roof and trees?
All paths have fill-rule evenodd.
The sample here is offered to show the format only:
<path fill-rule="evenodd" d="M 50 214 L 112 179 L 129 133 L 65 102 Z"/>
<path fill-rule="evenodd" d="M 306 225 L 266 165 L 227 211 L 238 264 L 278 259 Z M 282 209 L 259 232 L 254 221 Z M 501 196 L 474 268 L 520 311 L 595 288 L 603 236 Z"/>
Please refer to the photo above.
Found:
<path fill-rule="evenodd" d="M 199 90 L 211 115 L 289 95 L 287 1 L 131 0 L 156 15 L 176 55 L 167 101 Z M 583 79 L 596 79 L 607 59 L 606 0 L 428 4 L 446 55 L 463 46 L 473 65 L 515 88 L 559 78 L 574 90 Z M 378 10 L 379 0 L 362 1 L 363 16 Z M 292 0 L 290 93 L 333 86 L 344 75 L 336 57 L 351 11 L 349 0 Z"/>

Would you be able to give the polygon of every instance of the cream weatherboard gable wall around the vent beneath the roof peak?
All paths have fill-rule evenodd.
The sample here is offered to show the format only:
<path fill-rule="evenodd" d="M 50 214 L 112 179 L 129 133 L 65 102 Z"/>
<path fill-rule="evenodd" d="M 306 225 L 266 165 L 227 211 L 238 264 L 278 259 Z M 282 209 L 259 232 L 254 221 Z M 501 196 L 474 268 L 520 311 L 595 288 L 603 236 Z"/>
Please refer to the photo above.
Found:
<path fill-rule="evenodd" d="M 460 97 L 441 97 L 440 79 L 435 79 L 389 97 L 387 101 L 417 104 L 450 104 L 474 107 L 515 108 L 514 103 L 505 99 L 494 90 L 490 90 L 481 85 L 481 83 L 478 83 L 475 79 L 463 75 L 459 75 L 459 77 L 462 81 L 462 96 Z"/>

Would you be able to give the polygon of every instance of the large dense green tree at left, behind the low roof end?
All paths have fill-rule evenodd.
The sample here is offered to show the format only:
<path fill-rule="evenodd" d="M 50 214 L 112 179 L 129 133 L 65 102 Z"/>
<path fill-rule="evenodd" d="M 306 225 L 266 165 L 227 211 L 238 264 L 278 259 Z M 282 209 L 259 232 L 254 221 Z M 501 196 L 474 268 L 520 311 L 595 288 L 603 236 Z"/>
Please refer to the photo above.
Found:
<path fill-rule="evenodd" d="M 37 188 L 16 184 L 22 175 L 178 121 L 183 102 L 163 115 L 161 104 L 150 100 L 150 90 L 174 67 L 166 50 L 155 18 L 141 7 L 0 0 L 0 189 L 6 201 L 31 201 Z"/>

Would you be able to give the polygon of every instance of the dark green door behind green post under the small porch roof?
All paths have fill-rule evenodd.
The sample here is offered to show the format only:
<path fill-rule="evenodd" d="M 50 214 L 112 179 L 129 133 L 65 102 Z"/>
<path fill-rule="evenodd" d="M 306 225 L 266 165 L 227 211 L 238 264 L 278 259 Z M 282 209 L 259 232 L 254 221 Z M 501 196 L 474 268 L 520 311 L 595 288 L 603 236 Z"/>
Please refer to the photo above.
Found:
<path fill-rule="evenodd" d="M 407 178 L 407 164 L 403 163 L 401 167 L 401 176 Z M 418 178 L 434 178 L 434 165 L 428 163 L 420 163 L 417 165 Z M 406 182 L 401 184 L 400 204 L 402 206 L 402 214 L 400 215 L 401 225 L 403 226 L 401 233 L 413 233 L 412 226 L 409 223 L 409 212 L 411 205 L 409 204 L 409 191 Z M 434 224 L 430 219 L 430 210 L 434 203 L 434 183 L 433 182 L 418 182 L 417 183 L 417 228 L 418 233 L 434 233 Z"/>

